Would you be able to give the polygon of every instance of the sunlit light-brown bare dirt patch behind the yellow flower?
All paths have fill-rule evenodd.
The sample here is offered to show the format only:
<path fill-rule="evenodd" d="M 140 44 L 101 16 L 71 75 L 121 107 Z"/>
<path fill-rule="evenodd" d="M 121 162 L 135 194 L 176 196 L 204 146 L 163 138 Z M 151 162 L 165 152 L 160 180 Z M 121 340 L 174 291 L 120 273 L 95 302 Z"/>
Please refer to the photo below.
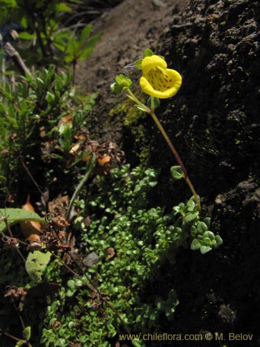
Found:
<path fill-rule="evenodd" d="M 157 49 L 173 14 L 188 0 L 124 0 L 94 21 L 93 33 L 103 31 L 92 56 L 80 62 L 76 81 L 87 92 L 109 89 L 124 65 L 141 58 L 146 48 Z M 102 89 L 101 89 L 102 88 Z"/>

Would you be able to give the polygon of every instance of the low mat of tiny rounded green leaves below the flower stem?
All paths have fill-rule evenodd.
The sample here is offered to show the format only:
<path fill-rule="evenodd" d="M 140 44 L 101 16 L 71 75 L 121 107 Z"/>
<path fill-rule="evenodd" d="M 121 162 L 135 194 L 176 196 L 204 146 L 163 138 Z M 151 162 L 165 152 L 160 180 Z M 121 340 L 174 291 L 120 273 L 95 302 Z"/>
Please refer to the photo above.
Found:
<path fill-rule="evenodd" d="M 165 288 L 161 294 L 150 291 L 144 298 L 144 287 L 147 282 L 163 281 L 161 266 L 173 266 L 180 247 L 197 239 L 194 228 L 200 230 L 201 223 L 209 223 L 209 219 L 199 220 L 193 198 L 175 206 L 170 214 L 163 208 L 150 207 L 148 194 L 155 185 L 157 174 L 153 169 L 136 167 L 130 171 L 129 165 L 112 169 L 110 176 L 97 178 L 85 212 L 74 225 L 87 251 L 99 257 L 87 269 L 87 277 L 108 295 L 131 332 L 162 331 L 162 317 L 173 320 L 178 305 L 175 290 Z M 89 227 L 85 224 L 87 215 Z M 114 255 L 109 256 L 109 249 Z M 98 309 L 98 301 L 89 297 L 83 285 L 87 277 L 69 279 L 49 305 L 42 332 L 45 346 L 63 346 L 68 335 L 80 346 L 113 346 L 110 341 L 123 332 L 111 308 L 103 303 Z M 61 325 L 53 330 L 55 321 Z"/>

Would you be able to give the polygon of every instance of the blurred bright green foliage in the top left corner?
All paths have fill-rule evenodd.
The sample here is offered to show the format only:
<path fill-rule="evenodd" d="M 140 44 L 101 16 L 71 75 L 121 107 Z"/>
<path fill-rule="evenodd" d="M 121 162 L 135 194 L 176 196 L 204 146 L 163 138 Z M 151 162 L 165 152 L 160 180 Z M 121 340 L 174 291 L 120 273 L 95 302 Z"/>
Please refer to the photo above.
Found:
<path fill-rule="evenodd" d="M 88 58 L 101 33 L 89 37 L 92 25 L 87 25 L 79 37 L 77 28 L 71 30 L 62 27 L 64 14 L 71 12 L 71 3 L 75 1 L 42 0 L 1 0 L 0 26 L 8 19 L 10 24 L 20 24 L 24 31 L 18 35 L 24 40 L 21 56 L 26 64 L 63 65 Z M 28 50 L 28 47 L 30 49 Z"/>

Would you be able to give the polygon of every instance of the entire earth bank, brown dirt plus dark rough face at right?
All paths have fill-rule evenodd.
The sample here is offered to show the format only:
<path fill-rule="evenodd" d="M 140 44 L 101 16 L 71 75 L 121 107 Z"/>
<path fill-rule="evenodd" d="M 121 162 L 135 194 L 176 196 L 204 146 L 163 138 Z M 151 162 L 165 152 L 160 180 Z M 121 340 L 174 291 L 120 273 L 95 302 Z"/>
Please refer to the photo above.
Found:
<path fill-rule="evenodd" d="M 77 67 L 78 84 L 99 92 L 95 126 L 121 146 L 129 140 L 123 122 L 110 124 L 108 116 L 121 100 L 109 91 L 121 66 L 150 47 L 182 74 L 180 92 L 164 100 L 157 115 L 224 243 L 206 255 L 180 252 L 175 266 L 162 266 L 168 283 L 153 288 L 163 293 L 173 287 L 179 296 L 175 320 L 165 323 L 164 332 L 218 332 L 226 341 L 176 346 L 260 346 L 259 25 L 257 0 L 125 0 L 96 20 L 94 31 L 103 28 L 104 35 Z M 173 185 L 173 158 L 153 122 L 144 117 L 141 123 L 150 137 L 150 164 L 162 169 L 153 199 L 171 208 L 189 198 L 189 191 Z M 253 338 L 228 341 L 229 333 Z"/>

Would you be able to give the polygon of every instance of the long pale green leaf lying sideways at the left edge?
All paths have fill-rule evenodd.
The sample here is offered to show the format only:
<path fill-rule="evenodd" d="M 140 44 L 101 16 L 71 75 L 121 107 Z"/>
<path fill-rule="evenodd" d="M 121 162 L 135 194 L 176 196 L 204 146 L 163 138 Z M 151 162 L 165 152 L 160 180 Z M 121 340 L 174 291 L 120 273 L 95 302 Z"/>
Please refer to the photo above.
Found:
<path fill-rule="evenodd" d="M 6 229 L 6 223 L 3 221 L 5 217 L 9 226 L 20 223 L 21 221 L 38 221 L 40 223 L 45 223 L 44 218 L 32 211 L 26 211 L 21 208 L 0 208 L 0 231 Z"/>

